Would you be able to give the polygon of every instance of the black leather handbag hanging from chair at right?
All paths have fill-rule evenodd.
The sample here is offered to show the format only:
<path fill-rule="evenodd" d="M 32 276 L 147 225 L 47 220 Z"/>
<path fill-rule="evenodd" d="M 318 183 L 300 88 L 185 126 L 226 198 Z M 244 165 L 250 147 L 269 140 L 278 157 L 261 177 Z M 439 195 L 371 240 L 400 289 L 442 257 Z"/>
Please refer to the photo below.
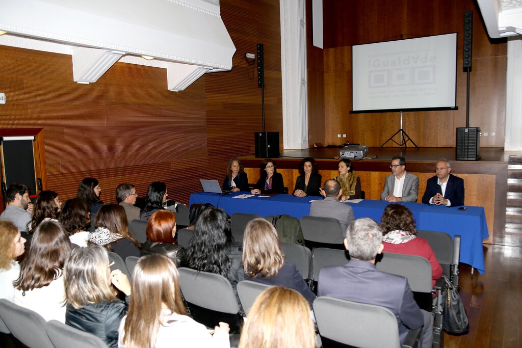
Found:
<path fill-rule="evenodd" d="M 442 325 L 444 331 L 452 334 L 465 333 L 469 330 L 469 320 L 458 289 L 444 275 L 442 277 L 445 280 L 442 294 L 444 301 Z"/>

